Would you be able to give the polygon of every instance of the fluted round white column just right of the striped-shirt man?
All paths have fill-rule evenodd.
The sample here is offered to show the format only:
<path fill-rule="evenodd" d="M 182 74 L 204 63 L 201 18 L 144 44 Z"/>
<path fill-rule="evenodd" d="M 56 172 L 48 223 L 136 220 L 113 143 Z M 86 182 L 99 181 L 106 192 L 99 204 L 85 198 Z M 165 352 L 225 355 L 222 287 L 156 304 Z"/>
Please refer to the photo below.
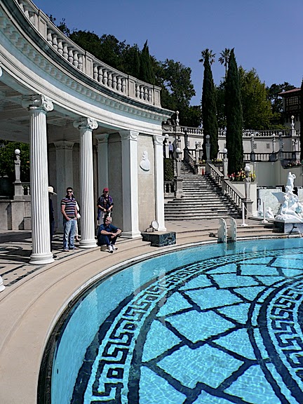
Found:
<path fill-rule="evenodd" d="M 93 194 L 93 129 L 97 122 L 81 118 L 74 122 L 80 131 L 80 187 L 81 187 L 81 241 L 80 247 L 93 248 L 95 241 L 94 194 Z"/>

